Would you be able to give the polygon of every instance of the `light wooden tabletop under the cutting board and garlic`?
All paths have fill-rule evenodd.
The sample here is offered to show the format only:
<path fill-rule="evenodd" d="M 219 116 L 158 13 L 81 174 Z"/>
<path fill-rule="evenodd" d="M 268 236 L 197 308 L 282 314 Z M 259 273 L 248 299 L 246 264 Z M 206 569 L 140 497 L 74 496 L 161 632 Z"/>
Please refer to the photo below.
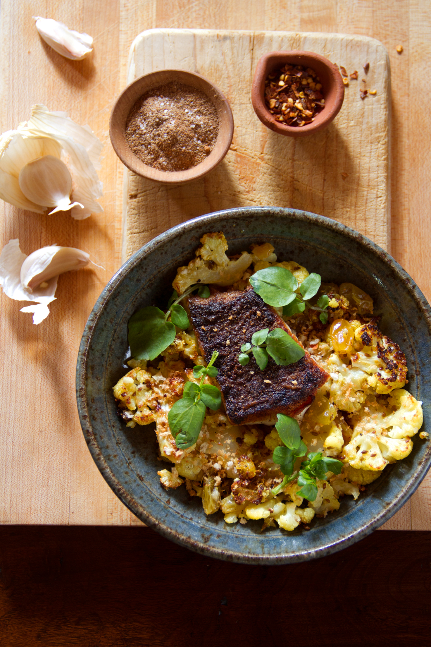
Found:
<path fill-rule="evenodd" d="M 61 58 L 39 38 L 32 16 L 43 11 L 94 36 L 85 61 Z M 155 27 L 289 30 L 364 34 L 383 42 L 392 67 L 392 254 L 431 298 L 428 209 L 431 203 L 427 82 L 431 18 L 426 0 L 5 0 L 1 6 L 1 131 L 28 119 L 32 104 L 68 111 L 104 144 L 104 212 L 84 221 L 43 216 L 0 204 L 0 244 L 21 249 L 78 247 L 100 267 L 65 274 L 40 325 L 1 300 L 0 523 L 140 525 L 107 486 L 78 421 L 75 366 L 79 340 L 101 290 L 120 267 L 123 167 L 112 151 L 112 103 L 125 87 L 134 37 Z M 398 54 L 397 45 L 403 45 Z M 423 115 L 425 113 L 425 115 Z M 431 477 L 386 529 L 431 529 Z"/>

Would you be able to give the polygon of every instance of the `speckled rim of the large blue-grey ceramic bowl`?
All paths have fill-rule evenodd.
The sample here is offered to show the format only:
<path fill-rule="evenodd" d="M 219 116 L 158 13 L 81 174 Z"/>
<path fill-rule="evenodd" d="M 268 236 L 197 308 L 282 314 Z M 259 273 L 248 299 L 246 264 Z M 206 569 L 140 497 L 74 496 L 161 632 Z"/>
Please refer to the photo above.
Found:
<path fill-rule="evenodd" d="M 421 459 L 421 464 L 417 469 L 417 471 L 415 472 L 412 479 L 410 480 L 410 483 L 408 483 L 408 485 L 406 485 L 401 490 L 401 492 L 399 492 L 398 496 L 395 499 L 393 499 L 391 503 L 388 503 L 385 509 L 379 514 L 377 514 L 375 518 L 373 518 L 371 521 L 368 521 L 367 523 L 364 523 L 363 525 L 361 525 L 361 523 L 359 522 L 359 527 L 357 527 L 354 531 L 350 532 L 349 534 L 346 534 L 341 538 L 339 538 L 337 542 L 326 543 L 325 545 L 321 545 L 317 547 L 317 549 L 315 550 L 307 549 L 304 551 L 297 551 L 295 553 L 284 553 L 284 554 L 271 554 L 271 555 L 251 554 L 250 555 L 250 554 L 244 554 L 238 551 L 233 551 L 232 549 L 229 549 L 229 551 L 224 551 L 222 549 L 218 549 L 216 547 L 208 545 L 205 542 L 205 540 L 203 540 L 202 542 L 196 541 L 192 539 L 190 536 L 185 536 L 184 534 L 180 534 L 179 532 L 173 530 L 171 527 L 169 527 L 169 525 L 163 523 L 163 521 L 160 521 L 159 519 L 152 516 L 152 514 L 147 512 L 142 507 L 142 504 L 138 503 L 138 501 L 134 499 L 132 494 L 129 493 L 123 487 L 123 485 L 121 485 L 120 481 L 118 481 L 116 476 L 114 476 L 112 470 L 110 469 L 109 464 L 107 463 L 107 461 L 105 460 L 105 457 L 101 453 L 98 441 L 96 439 L 96 434 L 94 433 L 94 430 L 92 430 L 92 426 L 90 422 L 90 411 L 89 411 L 89 406 L 87 401 L 85 374 L 86 374 L 86 368 L 87 368 L 87 356 L 89 353 L 89 347 L 90 347 L 92 337 L 94 336 L 94 333 L 96 331 L 98 320 L 100 319 L 105 307 L 107 307 L 107 303 L 109 302 L 111 292 L 121 283 L 121 281 L 123 281 L 123 279 L 127 276 L 128 272 L 132 269 L 132 267 L 141 263 L 142 259 L 145 258 L 145 256 L 147 256 L 149 252 L 153 252 L 154 250 L 161 248 L 167 241 L 174 241 L 174 239 L 178 236 L 180 232 L 187 232 L 187 231 L 190 233 L 193 232 L 193 229 L 196 226 L 196 224 L 208 223 L 207 226 L 209 227 L 209 230 L 211 230 L 211 226 L 213 225 L 213 222 L 215 221 L 216 217 L 220 217 L 220 215 L 224 215 L 229 218 L 237 217 L 239 219 L 244 215 L 244 212 L 247 212 L 247 214 L 249 214 L 250 212 L 253 212 L 253 214 L 263 215 L 264 212 L 268 210 L 271 210 L 271 212 L 277 213 L 279 215 L 293 216 L 295 217 L 295 219 L 299 219 L 300 221 L 303 221 L 304 224 L 306 224 L 307 222 L 310 222 L 311 220 L 313 223 L 317 223 L 318 225 L 324 228 L 327 228 L 329 230 L 335 230 L 335 232 L 342 234 L 342 236 L 345 236 L 347 239 L 362 243 L 363 245 L 368 247 L 374 254 L 379 256 L 383 261 L 386 261 L 386 263 L 388 263 L 391 269 L 395 270 L 395 273 L 408 284 L 408 291 L 410 292 L 417 306 L 421 310 L 421 313 L 423 314 L 426 320 L 426 323 L 428 325 L 428 329 L 431 331 L 431 307 L 430 307 L 430 304 L 427 302 L 423 293 L 419 290 L 419 288 L 412 280 L 412 278 L 407 274 L 407 272 L 401 267 L 401 265 L 399 265 L 399 263 L 397 263 L 397 261 L 395 261 L 394 258 L 392 258 L 392 256 L 390 256 L 390 254 L 388 254 L 388 252 L 385 252 L 381 247 L 373 243 L 373 241 L 363 236 L 363 234 L 356 232 L 355 230 L 353 230 L 352 228 L 346 225 L 342 225 L 342 223 L 339 223 L 337 221 L 334 221 L 330 218 L 327 218 L 321 215 L 312 214 L 311 212 L 304 212 L 296 209 L 269 207 L 269 206 L 268 207 L 240 207 L 240 208 L 220 210 L 218 212 L 213 212 L 212 214 L 201 215 L 194 219 L 186 221 L 185 223 L 176 225 L 170 228 L 169 230 L 167 230 L 166 232 L 163 232 L 159 236 L 155 237 L 151 241 L 149 241 L 146 245 L 140 248 L 140 250 L 135 252 L 131 256 L 131 258 L 125 261 L 125 263 L 114 274 L 114 276 L 112 276 L 107 286 L 103 289 L 103 291 L 100 294 L 100 297 L 98 298 L 96 304 L 94 305 L 92 313 L 90 313 L 89 320 L 87 321 L 85 330 L 83 332 L 81 344 L 79 345 L 78 362 L 77 362 L 77 369 L 76 369 L 77 404 L 78 404 L 79 420 L 81 422 L 83 435 L 85 437 L 87 445 L 89 446 L 89 450 L 90 450 L 90 453 L 92 454 L 94 462 L 98 466 L 101 474 L 109 484 L 110 488 L 112 488 L 114 493 L 124 503 L 124 505 L 129 510 L 131 510 L 133 514 L 138 516 L 138 518 L 142 519 L 142 521 L 144 521 L 147 525 L 152 527 L 152 529 L 160 532 L 160 534 L 162 534 L 166 538 L 169 538 L 170 540 L 173 540 L 175 543 L 188 547 L 192 551 L 195 551 L 200 554 L 204 554 L 205 556 L 208 556 L 208 555 L 213 556 L 215 558 L 219 558 L 222 560 L 239 562 L 244 564 L 261 564 L 261 565 L 289 564 L 289 563 L 302 562 L 304 560 L 311 559 L 311 558 L 319 558 L 319 557 L 325 556 L 326 554 L 331 554 L 331 553 L 340 551 L 348 547 L 349 545 L 352 545 L 353 543 L 357 542 L 358 540 L 364 538 L 371 532 L 373 532 L 375 529 L 377 529 L 377 527 L 379 527 L 390 517 L 392 517 L 392 515 L 395 514 L 395 512 L 397 512 L 397 510 L 399 510 L 405 504 L 408 498 L 410 498 L 410 496 L 412 496 L 415 490 L 419 487 L 421 481 L 426 476 L 426 473 L 428 472 L 428 469 L 430 468 L 430 465 L 431 465 L 431 444 L 428 445 L 425 456 L 423 457 L 423 459 Z"/>

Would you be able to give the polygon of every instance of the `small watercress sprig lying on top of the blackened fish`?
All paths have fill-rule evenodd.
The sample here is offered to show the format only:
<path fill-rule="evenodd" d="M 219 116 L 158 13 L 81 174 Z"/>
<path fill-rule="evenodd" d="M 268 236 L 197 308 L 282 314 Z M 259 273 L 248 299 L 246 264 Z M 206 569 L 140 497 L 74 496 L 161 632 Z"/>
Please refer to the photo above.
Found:
<path fill-rule="evenodd" d="M 305 355 L 304 349 L 282 328 L 275 328 L 271 332 L 269 328 L 258 330 L 251 337 L 251 344 L 247 342 L 241 346 L 238 362 L 241 366 L 246 366 L 250 361 L 249 354 L 253 353 L 261 371 L 268 364 L 269 355 L 279 366 L 294 364 Z"/>

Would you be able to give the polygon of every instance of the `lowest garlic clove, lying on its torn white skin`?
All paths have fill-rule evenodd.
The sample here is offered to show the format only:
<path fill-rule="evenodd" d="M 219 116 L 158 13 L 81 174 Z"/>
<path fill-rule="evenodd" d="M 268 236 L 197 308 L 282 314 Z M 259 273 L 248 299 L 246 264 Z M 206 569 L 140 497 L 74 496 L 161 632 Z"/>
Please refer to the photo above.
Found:
<path fill-rule="evenodd" d="M 23 261 L 20 271 L 21 285 L 30 292 L 36 287 L 46 287 L 45 283 L 54 276 L 85 267 L 89 258 L 87 252 L 74 247 L 42 247 Z"/>

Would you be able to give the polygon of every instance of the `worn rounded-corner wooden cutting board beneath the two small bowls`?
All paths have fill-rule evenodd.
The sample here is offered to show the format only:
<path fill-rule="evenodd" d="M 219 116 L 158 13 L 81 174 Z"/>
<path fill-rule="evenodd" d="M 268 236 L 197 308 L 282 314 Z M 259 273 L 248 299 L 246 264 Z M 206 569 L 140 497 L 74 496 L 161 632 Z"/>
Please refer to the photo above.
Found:
<path fill-rule="evenodd" d="M 344 104 L 326 129 L 291 138 L 258 120 L 251 105 L 251 81 L 260 56 L 273 50 L 318 52 L 346 69 Z M 198 215 L 256 205 L 325 215 L 389 251 L 390 68 L 379 41 L 297 32 L 142 32 L 132 43 L 128 83 L 166 68 L 198 72 L 220 88 L 233 112 L 233 142 L 215 170 L 182 186 L 126 172 L 123 260 L 154 236 Z M 357 80 L 350 79 L 354 71 Z M 363 88 L 376 93 L 361 99 Z"/>

